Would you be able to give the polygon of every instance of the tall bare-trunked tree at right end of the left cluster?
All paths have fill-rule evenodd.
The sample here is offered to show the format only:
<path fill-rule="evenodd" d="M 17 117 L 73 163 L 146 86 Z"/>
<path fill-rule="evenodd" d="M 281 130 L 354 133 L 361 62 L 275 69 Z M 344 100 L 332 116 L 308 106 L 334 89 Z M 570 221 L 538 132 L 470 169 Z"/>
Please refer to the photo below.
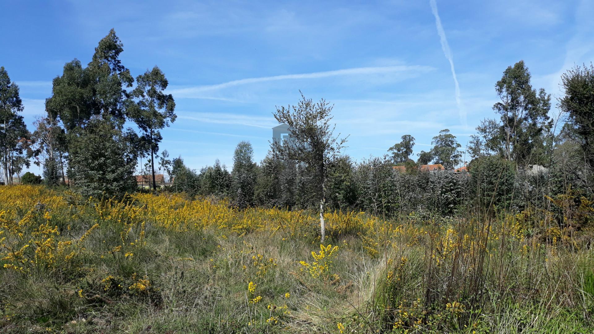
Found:
<path fill-rule="evenodd" d="M 169 122 L 175 122 L 175 101 L 171 94 L 163 93 L 163 90 L 167 88 L 168 81 L 159 67 L 155 66 L 153 70 L 138 75 L 136 83 L 137 86 L 131 93 L 135 102 L 129 104 L 128 117 L 143 132 L 143 136 L 140 138 L 141 141 L 147 143 L 146 146 L 149 149 L 153 190 L 157 190 L 154 176 L 154 155 L 159 152 L 159 143 L 163 138 L 159 130 L 168 127 Z"/>

